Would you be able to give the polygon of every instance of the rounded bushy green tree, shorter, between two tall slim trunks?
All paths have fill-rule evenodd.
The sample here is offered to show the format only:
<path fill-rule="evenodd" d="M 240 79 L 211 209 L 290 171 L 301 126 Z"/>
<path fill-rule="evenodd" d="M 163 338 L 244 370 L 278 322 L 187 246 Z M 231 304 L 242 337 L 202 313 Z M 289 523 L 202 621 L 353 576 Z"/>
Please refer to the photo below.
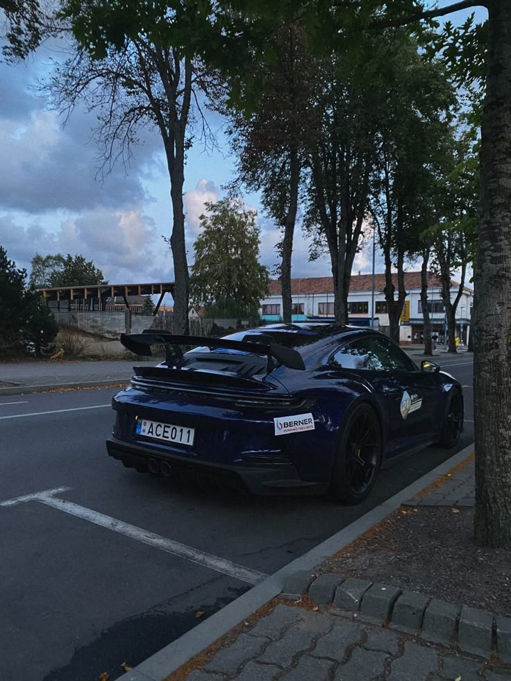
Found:
<path fill-rule="evenodd" d="M 241 201 L 224 199 L 206 203 L 201 234 L 194 244 L 191 268 L 192 303 L 207 307 L 234 300 L 246 306 L 259 304 L 267 293 L 269 274 L 259 263 L 259 228 L 255 212 L 243 210 Z"/>

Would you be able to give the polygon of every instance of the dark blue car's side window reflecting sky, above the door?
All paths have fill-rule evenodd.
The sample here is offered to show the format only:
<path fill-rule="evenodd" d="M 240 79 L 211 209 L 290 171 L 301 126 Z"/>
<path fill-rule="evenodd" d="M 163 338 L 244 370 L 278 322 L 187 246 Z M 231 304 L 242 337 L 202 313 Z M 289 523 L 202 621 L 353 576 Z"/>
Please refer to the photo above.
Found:
<path fill-rule="evenodd" d="M 358 371 L 414 371 L 415 367 L 401 348 L 382 337 L 361 338 L 337 350 L 330 364 Z"/>

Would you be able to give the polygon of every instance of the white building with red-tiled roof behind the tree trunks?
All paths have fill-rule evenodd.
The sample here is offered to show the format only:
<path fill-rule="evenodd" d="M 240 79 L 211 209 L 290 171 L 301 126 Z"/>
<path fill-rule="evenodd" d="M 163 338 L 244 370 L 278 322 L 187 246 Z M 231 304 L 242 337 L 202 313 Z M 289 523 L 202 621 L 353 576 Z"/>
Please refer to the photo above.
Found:
<path fill-rule="evenodd" d="M 396 276 L 394 275 L 396 278 Z M 397 288 L 397 280 L 394 281 Z M 385 275 L 375 275 L 373 295 L 372 275 L 358 274 L 351 277 L 348 296 L 349 321 L 358 326 L 370 326 L 374 317 L 375 327 L 387 330 L 389 315 L 387 301 L 383 289 Z M 460 285 L 451 282 L 451 301 L 458 294 Z M 401 344 L 421 343 L 424 339 L 424 317 L 421 305 L 421 273 L 405 273 L 405 289 L 407 292 L 403 314 L 401 315 Z M 310 277 L 292 279 L 293 321 L 304 321 L 311 317 L 333 317 L 333 279 L 331 277 Z M 433 334 L 439 343 L 445 342 L 446 324 L 444 301 L 441 296 L 442 287 L 434 274 L 428 275 L 428 307 L 433 326 Z M 372 305 L 374 303 L 374 310 Z M 471 309 L 474 304 L 474 289 L 463 287 L 462 296 L 456 310 L 456 335 L 460 343 L 467 344 L 470 334 Z M 269 285 L 269 295 L 261 301 L 260 314 L 266 321 L 282 319 L 282 293 L 280 281 L 274 280 Z"/>

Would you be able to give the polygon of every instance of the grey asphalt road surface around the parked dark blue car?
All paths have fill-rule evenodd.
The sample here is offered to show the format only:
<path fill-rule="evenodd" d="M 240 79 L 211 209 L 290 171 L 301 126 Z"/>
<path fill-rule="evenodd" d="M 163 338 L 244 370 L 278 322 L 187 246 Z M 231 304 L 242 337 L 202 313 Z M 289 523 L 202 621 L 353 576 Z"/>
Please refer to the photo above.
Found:
<path fill-rule="evenodd" d="M 461 449 L 474 439 L 471 357 L 439 361 L 468 386 Z M 381 471 L 356 507 L 203 491 L 141 476 L 106 455 L 114 392 L 0 398 L 6 681 L 117 678 L 123 662 L 142 662 L 249 589 L 250 574 L 273 573 L 452 454 L 429 448 Z M 69 489 L 1 506 L 60 487 Z M 187 557 L 175 555 L 183 545 Z M 233 576 L 239 565 L 248 581 Z"/>

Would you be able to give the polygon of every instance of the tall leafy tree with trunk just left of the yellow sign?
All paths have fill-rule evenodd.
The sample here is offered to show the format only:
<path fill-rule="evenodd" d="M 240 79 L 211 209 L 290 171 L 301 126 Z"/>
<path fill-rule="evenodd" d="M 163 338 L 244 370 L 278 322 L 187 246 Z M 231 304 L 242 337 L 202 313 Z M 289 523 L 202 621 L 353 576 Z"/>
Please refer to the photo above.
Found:
<path fill-rule="evenodd" d="M 390 335 L 396 342 L 407 295 L 405 258 L 422 250 L 419 235 L 424 228 L 424 195 L 435 182 L 431 167 L 442 148 L 446 119 L 455 104 L 453 87 L 439 62 L 420 54 L 417 42 L 407 35 L 402 41 L 394 63 L 396 76 L 380 87 L 383 111 L 370 199 L 385 259 Z"/>

